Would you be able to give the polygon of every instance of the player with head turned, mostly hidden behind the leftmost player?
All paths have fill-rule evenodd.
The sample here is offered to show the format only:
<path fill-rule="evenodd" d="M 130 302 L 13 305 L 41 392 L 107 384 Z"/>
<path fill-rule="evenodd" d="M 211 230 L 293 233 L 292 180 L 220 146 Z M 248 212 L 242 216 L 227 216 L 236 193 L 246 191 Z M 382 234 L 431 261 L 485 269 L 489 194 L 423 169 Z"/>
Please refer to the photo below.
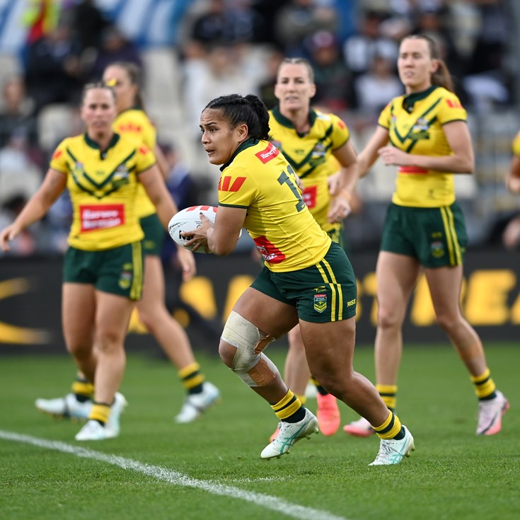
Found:
<path fill-rule="evenodd" d="M 115 132 L 137 143 L 144 143 L 154 151 L 163 178 L 168 166 L 156 143 L 156 129 L 144 111 L 141 100 L 141 71 L 129 62 L 111 64 L 103 73 L 103 81 L 112 86 L 117 96 Z M 144 287 L 137 303 L 139 319 L 153 335 L 178 369 L 178 376 L 187 393 L 176 422 L 192 422 L 200 417 L 218 398 L 216 386 L 205 380 L 200 365 L 195 361 L 190 340 L 183 327 L 166 308 L 165 282 L 161 263 L 161 249 L 165 237 L 154 204 L 143 187 L 137 187 L 136 212 L 144 231 Z M 82 374 L 72 384 L 71 393 L 64 398 L 38 399 L 36 407 L 52 415 L 70 415 L 82 418 L 88 413 L 93 388 Z"/>

